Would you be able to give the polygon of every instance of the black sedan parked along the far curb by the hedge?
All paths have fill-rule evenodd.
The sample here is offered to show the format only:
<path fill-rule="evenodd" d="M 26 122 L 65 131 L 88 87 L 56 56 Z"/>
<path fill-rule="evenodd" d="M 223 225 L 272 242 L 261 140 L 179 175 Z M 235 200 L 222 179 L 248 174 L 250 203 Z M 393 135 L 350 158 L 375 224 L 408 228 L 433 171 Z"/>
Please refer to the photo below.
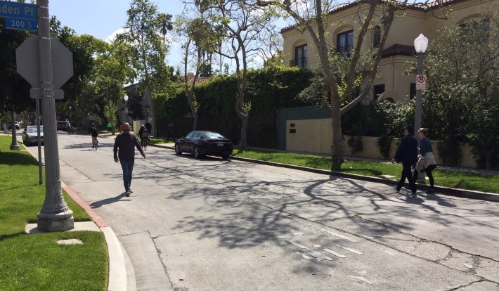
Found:
<path fill-rule="evenodd" d="M 197 158 L 216 155 L 227 160 L 232 155 L 232 141 L 214 131 L 190 131 L 175 141 L 175 153 L 191 153 Z"/>

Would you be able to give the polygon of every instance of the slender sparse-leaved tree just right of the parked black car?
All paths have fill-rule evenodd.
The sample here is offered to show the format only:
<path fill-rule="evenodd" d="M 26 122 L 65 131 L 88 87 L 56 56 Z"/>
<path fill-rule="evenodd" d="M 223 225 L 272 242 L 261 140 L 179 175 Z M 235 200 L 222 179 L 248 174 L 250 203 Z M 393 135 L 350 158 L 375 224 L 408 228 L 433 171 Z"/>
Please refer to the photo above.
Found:
<path fill-rule="evenodd" d="M 270 48 L 276 34 L 276 17 L 272 9 L 263 9 L 257 1 L 244 0 L 195 0 L 194 4 L 201 15 L 209 18 L 212 33 L 217 35 L 221 46 L 213 50 L 221 56 L 235 61 L 235 75 L 238 79 L 238 94 L 235 112 L 241 119 L 242 150 L 247 148 L 247 124 L 250 104 L 245 103 L 248 63 L 259 56 L 264 48 Z M 220 30 L 223 27 L 223 30 Z"/>

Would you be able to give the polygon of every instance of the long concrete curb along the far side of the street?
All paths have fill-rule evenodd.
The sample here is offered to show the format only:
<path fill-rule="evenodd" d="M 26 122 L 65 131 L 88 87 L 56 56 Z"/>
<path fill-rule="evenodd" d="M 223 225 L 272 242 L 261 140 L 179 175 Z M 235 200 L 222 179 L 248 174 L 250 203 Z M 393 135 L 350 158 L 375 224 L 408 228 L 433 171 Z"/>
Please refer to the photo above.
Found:
<path fill-rule="evenodd" d="M 158 148 L 169 148 L 171 150 L 174 149 L 174 147 L 170 146 L 170 145 L 152 145 L 152 146 L 155 146 Z M 323 174 L 323 175 L 328 175 L 328 176 L 337 176 L 337 177 L 342 177 L 342 178 L 356 179 L 356 180 L 361 180 L 361 181 L 369 181 L 369 182 L 374 182 L 374 183 L 383 183 L 383 184 L 387 184 L 389 186 L 396 186 L 398 184 L 398 181 L 382 179 L 382 178 L 378 178 L 378 177 L 362 176 L 362 175 L 357 175 L 357 174 L 348 174 L 348 173 L 328 171 L 328 170 L 323 170 L 323 169 L 314 169 L 314 168 L 309 168 L 309 167 L 295 166 L 292 164 L 281 164 L 278 162 L 267 162 L 267 161 L 249 159 L 247 157 L 231 156 L 231 160 L 239 160 L 242 162 L 252 162 L 255 164 L 266 164 L 268 166 L 273 166 L 273 167 L 297 169 L 299 171 L 306 171 L 306 172 L 312 172 L 312 173 Z M 420 188 L 422 190 L 429 190 L 429 186 L 427 186 L 427 185 L 418 184 L 417 188 Z M 465 189 L 460 189 L 460 188 L 450 188 L 450 187 L 443 187 L 443 186 L 435 186 L 434 188 L 436 191 L 438 191 L 439 194 L 443 194 L 443 195 L 460 197 L 460 198 L 469 198 L 469 199 L 475 199 L 475 200 L 499 202 L 499 194 L 495 194 L 495 193 L 486 193 L 486 192 L 480 192 L 480 191 L 474 191 L 474 190 L 465 190 Z"/>

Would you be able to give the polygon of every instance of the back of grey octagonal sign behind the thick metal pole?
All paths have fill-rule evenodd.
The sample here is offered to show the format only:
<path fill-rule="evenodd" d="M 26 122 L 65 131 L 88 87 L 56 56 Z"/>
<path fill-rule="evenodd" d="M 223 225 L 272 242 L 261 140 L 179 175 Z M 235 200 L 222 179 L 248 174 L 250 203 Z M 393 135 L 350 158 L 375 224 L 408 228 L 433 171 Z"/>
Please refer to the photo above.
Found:
<path fill-rule="evenodd" d="M 73 75 L 73 55 L 58 39 L 51 37 L 53 89 L 70 79 Z M 40 62 L 38 51 L 38 37 L 32 35 L 15 49 L 15 59 L 18 73 L 33 88 L 40 87 Z"/>

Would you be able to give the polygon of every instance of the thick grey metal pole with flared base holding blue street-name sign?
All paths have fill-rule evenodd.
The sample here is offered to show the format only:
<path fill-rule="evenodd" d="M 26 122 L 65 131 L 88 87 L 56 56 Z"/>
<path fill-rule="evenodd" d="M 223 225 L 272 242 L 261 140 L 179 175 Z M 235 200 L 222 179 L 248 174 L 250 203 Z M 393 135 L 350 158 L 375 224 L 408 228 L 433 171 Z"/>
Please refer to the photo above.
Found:
<path fill-rule="evenodd" d="M 38 0 L 38 36 L 41 105 L 44 112 L 45 201 L 38 216 L 40 231 L 68 231 L 74 228 L 73 212 L 60 187 L 56 101 L 53 89 L 52 53 L 48 0 Z"/>

